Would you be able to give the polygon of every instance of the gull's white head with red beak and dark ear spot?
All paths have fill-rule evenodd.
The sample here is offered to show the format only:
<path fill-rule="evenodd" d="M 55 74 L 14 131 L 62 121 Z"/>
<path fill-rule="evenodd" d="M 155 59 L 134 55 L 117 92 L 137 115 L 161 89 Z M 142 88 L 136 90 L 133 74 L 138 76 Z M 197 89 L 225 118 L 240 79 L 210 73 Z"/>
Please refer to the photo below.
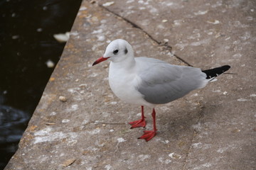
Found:
<path fill-rule="evenodd" d="M 126 40 L 117 39 L 117 40 L 113 40 L 112 42 L 110 42 L 109 45 L 107 45 L 107 48 L 103 57 L 100 57 L 98 60 L 96 60 L 92 64 L 92 66 L 100 62 L 103 62 L 105 60 L 110 60 L 112 62 L 119 62 L 129 57 L 134 57 L 132 46 Z"/>

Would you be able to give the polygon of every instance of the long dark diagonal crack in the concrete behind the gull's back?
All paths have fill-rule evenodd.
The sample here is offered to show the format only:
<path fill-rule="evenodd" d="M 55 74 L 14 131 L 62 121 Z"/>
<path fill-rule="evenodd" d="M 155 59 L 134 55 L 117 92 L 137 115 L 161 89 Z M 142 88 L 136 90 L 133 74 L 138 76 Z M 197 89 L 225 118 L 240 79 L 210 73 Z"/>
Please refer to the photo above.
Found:
<path fill-rule="evenodd" d="M 159 42 L 158 40 L 156 40 L 155 38 L 153 38 L 152 35 L 150 35 L 149 33 L 146 32 L 146 30 L 144 30 L 143 28 L 141 28 L 140 26 L 138 26 L 136 23 L 129 21 L 129 19 L 124 18 L 122 16 L 120 16 L 118 13 L 115 13 L 114 11 L 111 11 L 109 8 L 106 8 L 105 6 L 102 6 L 101 4 L 98 4 L 98 6 L 100 6 L 101 8 L 105 9 L 106 11 L 112 13 L 114 16 L 117 16 L 117 18 L 121 18 L 123 21 L 129 23 L 130 25 L 132 25 L 134 28 L 137 28 L 139 30 L 141 30 L 144 34 L 146 34 L 151 40 L 153 40 L 154 42 L 156 42 L 156 44 L 164 47 L 166 50 L 169 50 L 169 52 L 171 52 L 172 47 L 170 45 L 168 45 L 167 43 L 163 43 L 163 42 Z M 180 60 L 181 62 L 187 64 L 188 66 L 193 67 L 192 64 L 189 64 L 188 62 L 186 62 L 186 60 L 183 60 L 181 57 L 178 57 L 178 55 L 175 55 L 174 53 L 171 52 L 171 55 L 173 55 L 174 57 L 176 57 L 176 59 Z"/>

